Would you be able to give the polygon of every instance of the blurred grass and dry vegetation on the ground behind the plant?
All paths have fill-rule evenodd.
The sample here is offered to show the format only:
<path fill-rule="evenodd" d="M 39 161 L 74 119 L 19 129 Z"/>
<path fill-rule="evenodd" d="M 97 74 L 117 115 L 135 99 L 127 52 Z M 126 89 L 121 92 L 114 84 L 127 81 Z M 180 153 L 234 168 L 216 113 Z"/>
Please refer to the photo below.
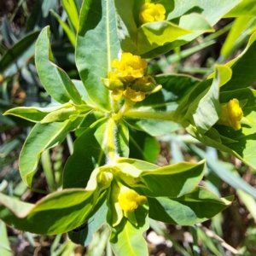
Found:
<path fill-rule="evenodd" d="M 2 113 L 19 106 L 45 107 L 54 103 L 40 84 L 34 64 L 35 43 L 44 26 L 50 26 L 55 63 L 72 79 L 79 79 L 74 44 L 82 0 L 75 0 L 73 6 L 70 2 L 0 0 L 0 191 L 22 201 L 35 203 L 61 189 L 63 166 L 73 152 L 75 135 L 69 134 L 64 143 L 42 154 L 29 189 L 21 181 L 18 160 L 33 124 Z M 207 77 L 214 64 L 225 63 L 241 53 L 256 30 L 256 17 L 223 19 L 215 30 L 150 60 L 148 73 Z M 229 154 L 207 148 L 182 129 L 155 138 L 143 132 L 134 136 L 140 140 L 137 144 L 131 142 L 131 157 L 146 158 L 159 166 L 207 159 L 207 173 L 201 184 L 219 196 L 236 195 L 231 207 L 203 224 L 182 227 L 152 221 L 145 234 L 149 255 L 256 255 L 253 170 Z M 65 234 L 38 236 L 15 230 L 0 220 L 0 255 L 112 255 L 108 236 L 108 230 L 102 227 L 90 246 L 82 247 L 69 241 Z"/>

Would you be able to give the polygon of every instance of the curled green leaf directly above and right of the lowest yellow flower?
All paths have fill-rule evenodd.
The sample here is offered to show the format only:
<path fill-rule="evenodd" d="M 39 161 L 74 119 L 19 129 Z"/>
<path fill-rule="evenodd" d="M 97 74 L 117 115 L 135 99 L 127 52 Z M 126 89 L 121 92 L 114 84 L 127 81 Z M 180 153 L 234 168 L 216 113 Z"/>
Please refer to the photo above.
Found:
<path fill-rule="evenodd" d="M 125 183 L 137 189 L 139 194 L 149 197 L 169 196 L 179 197 L 191 192 L 200 183 L 204 174 L 205 161 L 198 164 L 181 162 L 172 166 L 157 167 L 148 162 L 121 158 L 117 160 L 116 166 L 121 170 L 119 177 Z M 139 182 L 134 183 L 132 179 L 125 176 L 135 177 Z M 146 186 L 145 186 L 146 185 Z"/>

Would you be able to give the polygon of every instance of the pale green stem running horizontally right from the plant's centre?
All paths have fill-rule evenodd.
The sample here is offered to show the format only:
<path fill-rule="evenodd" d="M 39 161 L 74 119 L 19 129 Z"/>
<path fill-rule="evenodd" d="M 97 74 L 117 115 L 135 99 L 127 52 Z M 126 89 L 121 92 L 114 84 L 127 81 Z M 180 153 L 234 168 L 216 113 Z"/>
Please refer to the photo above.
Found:
<path fill-rule="evenodd" d="M 134 118 L 134 119 L 158 119 L 158 120 L 175 121 L 172 113 L 173 112 L 164 113 L 164 112 L 129 111 L 124 113 L 124 116 Z"/>

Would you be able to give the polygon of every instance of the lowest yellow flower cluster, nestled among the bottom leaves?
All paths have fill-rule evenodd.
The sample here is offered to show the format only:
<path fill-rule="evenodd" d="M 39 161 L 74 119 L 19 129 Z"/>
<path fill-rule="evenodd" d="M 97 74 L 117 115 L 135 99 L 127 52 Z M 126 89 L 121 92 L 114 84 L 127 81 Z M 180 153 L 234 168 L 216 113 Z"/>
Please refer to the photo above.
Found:
<path fill-rule="evenodd" d="M 119 194 L 119 206 L 125 212 L 133 212 L 139 205 L 146 203 L 144 195 L 138 195 L 133 189 L 122 186 Z"/>

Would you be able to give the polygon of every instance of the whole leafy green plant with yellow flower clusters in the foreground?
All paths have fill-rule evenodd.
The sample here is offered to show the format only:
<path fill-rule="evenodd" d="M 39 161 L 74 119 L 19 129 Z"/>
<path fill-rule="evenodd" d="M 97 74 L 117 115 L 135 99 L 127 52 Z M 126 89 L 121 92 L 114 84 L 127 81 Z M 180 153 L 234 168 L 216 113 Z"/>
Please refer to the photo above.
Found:
<path fill-rule="evenodd" d="M 116 255 L 148 255 L 143 239 L 148 218 L 190 225 L 228 207 L 232 196 L 218 198 L 199 186 L 205 160 L 154 165 L 159 153 L 154 136 L 184 128 L 201 143 L 256 169 L 256 92 L 247 88 L 256 82 L 256 33 L 241 55 L 216 66 L 204 80 L 153 76 L 143 57 L 164 54 L 213 32 L 224 15 L 236 14 L 233 8 L 240 2 L 84 0 L 78 16 L 75 6 L 63 1 L 67 15 L 74 16 L 73 30 L 61 26 L 75 46 L 81 80 L 70 79 L 55 65 L 46 26 L 38 36 L 35 63 L 44 89 L 57 103 L 13 108 L 5 114 L 36 123 L 20 152 L 20 176 L 27 186 L 32 186 L 44 150 L 62 143 L 71 131 L 77 136 L 73 154 L 64 168 L 62 190 L 36 204 L 0 194 L 0 218 L 32 233 L 68 232 L 84 246 L 107 223 Z M 145 3 L 160 3 L 165 15 L 142 24 L 139 15 Z M 28 37 L 34 40 L 34 34 Z M 8 55 L 0 62 L 4 65 L 9 65 Z M 241 109 L 232 114 L 242 111 L 236 130 L 219 121 L 229 118 L 223 106 L 233 99 Z M 79 230 L 86 222 L 86 230 Z"/>

